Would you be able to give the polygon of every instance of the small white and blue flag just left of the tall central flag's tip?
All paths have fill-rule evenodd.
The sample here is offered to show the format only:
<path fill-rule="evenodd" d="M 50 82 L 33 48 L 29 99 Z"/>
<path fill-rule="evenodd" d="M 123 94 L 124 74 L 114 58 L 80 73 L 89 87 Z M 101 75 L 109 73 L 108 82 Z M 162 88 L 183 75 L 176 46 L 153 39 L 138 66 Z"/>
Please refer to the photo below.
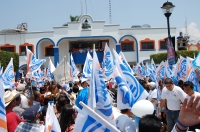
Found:
<path fill-rule="evenodd" d="M 90 78 L 92 75 L 92 56 L 90 53 L 87 53 L 85 64 L 83 67 L 83 74 L 85 78 Z"/>

